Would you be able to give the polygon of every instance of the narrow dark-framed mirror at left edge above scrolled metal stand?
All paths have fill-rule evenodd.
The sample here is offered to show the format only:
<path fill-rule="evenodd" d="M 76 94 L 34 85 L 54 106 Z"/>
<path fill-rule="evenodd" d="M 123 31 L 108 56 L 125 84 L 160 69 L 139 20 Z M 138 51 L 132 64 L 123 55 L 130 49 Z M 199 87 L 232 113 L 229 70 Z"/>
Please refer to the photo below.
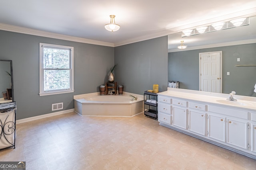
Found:
<path fill-rule="evenodd" d="M 0 59 L 0 104 L 14 102 L 12 61 Z"/>

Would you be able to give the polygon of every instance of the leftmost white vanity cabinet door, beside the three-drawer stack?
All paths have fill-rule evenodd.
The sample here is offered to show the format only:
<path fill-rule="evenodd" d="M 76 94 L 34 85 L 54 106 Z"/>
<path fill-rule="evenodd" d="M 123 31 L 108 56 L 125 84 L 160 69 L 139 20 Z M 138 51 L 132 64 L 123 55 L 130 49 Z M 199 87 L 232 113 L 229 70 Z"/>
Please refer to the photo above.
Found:
<path fill-rule="evenodd" d="M 187 129 L 187 109 L 173 106 L 173 125 Z"/>

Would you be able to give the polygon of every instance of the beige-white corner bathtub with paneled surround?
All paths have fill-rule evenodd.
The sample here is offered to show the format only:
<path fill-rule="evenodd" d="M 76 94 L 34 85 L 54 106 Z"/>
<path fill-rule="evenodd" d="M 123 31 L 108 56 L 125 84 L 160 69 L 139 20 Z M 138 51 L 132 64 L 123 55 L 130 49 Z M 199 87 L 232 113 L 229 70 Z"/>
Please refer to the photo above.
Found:
<path fill-rule="evenodd" d="M 138 97 L 132 101 L 129 95 Z M 100 96 L 99 92 L 74 96 L 75 112 L 81 116 L 132 117 L 144 111 L 144 96 L 123 92 L 123 95 Z"/>

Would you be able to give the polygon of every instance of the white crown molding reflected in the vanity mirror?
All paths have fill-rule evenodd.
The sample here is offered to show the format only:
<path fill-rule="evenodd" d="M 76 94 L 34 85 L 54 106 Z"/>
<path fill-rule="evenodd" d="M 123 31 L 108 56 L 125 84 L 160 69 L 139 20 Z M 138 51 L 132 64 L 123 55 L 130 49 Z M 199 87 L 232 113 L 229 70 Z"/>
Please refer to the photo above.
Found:
<path fill-rule="evenodd" d="M 232 41 L 227 43 L 216 43 L 216 44 L 209 44 L 209 45 L 199 45 L 194 47 L 187 47 L 186 49 L 168 49 L 168 53 L 171 52 L 179 52 L 179 51 L 189 51 L 189 50 L 197 50 L 197 49 L 207 49 L 207 48 L 214 48 L 214 47 L 225 47 L 225 46 L 231 46 L 231 45 L 242 45 L 242 44 L 252 44 L 256 43 L 256 39 L 247 39 L 247 40 L 241 40 L 241 41 Z"/>

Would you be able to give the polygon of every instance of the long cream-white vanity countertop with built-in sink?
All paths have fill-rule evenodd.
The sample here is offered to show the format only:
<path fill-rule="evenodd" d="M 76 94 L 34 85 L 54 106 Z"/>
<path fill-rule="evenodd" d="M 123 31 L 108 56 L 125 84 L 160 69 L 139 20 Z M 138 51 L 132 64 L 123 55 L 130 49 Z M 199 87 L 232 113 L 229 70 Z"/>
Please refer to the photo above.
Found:
<path fill-rule="evenodd" d="M 252 109 L 256 111 L 256 98 L 249 96 L 234 95 L 237 101 L 227 100 L 229 94 L 220 94 L 212 92 L 202 92 L 197 90 L 186 90 L 179 88 L 168 88 L 167 91 L 158 93 L 159 95 L 172 96 L 176 98 L 194 100 L 198 102 L 207 102 L 209 104 L 218 104 L 222 106 L 232 106 L 239 108 Z"/>

